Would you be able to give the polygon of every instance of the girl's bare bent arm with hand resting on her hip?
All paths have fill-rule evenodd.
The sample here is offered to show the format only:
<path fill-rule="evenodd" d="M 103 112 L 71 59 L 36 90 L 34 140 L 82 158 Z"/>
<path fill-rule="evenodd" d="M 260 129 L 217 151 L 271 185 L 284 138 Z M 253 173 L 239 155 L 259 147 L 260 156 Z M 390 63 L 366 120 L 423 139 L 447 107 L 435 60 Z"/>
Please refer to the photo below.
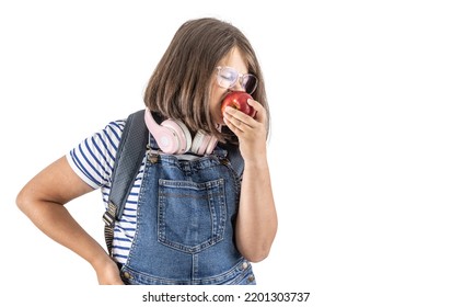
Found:
<path fill-rule="evenodd" d="M 85 259 L 100 284 L 121 284 L 115 262 L 63 206 L 91 191 L 61 157 L 25 184 L 16 204 L 44 234 Z"/>

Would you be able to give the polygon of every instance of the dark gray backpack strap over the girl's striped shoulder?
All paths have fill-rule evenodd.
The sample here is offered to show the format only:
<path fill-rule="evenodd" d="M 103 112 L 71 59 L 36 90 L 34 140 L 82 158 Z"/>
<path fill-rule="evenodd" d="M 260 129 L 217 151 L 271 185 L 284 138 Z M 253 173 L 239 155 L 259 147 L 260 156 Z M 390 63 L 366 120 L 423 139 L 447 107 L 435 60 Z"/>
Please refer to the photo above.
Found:
<path fill-rule="evenodd" d="M 123 215 L 127 196 L 140 170 L 146 154 L 148 134 L 144 123 L 144 110 L 135 112 L 127 117 L 113 167 L 108 208 L 103 216 L 105 242 L 111 255 L 115 221 Z"/>

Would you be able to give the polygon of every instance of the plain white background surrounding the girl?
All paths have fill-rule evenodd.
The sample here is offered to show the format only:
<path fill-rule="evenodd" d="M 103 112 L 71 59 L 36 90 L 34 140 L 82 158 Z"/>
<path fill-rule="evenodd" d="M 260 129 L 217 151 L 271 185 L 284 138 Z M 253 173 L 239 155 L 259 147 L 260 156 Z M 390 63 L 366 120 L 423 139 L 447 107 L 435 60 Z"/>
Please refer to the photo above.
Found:
<path fill-rule="evenodd" d="M 311 292 L 306 306 L 451 306 L 447 2 L 1 1 L 1 299 L 143 306 L 149 288 L 96 286 L 14 200 L 83 138 L 141 109 L 178 26 L 215 16 L 252 42 L 271 109 L 279 229 L 254 289 Z M 98 191 L 68 207 L 103 241 Z"/>

